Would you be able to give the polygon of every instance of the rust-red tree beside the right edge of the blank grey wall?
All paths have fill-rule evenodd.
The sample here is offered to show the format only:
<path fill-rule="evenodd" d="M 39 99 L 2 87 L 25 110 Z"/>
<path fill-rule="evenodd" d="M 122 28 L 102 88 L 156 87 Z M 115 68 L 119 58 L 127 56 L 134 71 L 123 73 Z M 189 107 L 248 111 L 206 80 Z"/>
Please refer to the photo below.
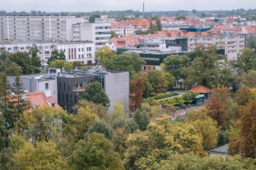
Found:
<path fill-rule="evenodd" d="M 138 76 L 135 80 L 130 81 L 130 92 L 135 92 L 135 96 L 130 97 L 130 111 L 134 112 L 142 104 L 143 91 L 146 89 L 145 75 Z"/>

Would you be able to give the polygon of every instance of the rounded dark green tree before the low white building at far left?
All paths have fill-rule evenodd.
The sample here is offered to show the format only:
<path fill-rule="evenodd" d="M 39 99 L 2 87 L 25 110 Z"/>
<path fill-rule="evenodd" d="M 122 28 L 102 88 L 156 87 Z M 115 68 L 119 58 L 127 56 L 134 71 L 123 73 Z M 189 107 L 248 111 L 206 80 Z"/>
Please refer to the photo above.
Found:
<path fill-rule="evenodd" d="M 28 52 L 20 51 L 9 54 L 10 61 L 21 66 L 23 75 L 34 73 L 33 64 L 29 55 Z"/>

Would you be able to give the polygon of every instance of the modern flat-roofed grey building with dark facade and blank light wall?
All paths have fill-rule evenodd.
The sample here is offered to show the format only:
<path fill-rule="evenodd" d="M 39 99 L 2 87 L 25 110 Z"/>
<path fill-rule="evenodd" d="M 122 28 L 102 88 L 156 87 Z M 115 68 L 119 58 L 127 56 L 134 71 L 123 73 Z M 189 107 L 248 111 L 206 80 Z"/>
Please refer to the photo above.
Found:
<path fill-rule="evenodd" d="M 8 77 L 12 84 L 14 77 Z M 113 104 L 123 99 L 129 99 L 129 72 L 107 71 L 105 68 L 96 70 L 74 69 L 66 72 L 64 69 L 49 69 L 49 73 L 22 75 L 27 92 L 38 92 L 50 89 L 47 96 L 52 96 L 59 106 L 72 113 L 72 107 L 79 101 L 84 87 L 95 81 L 102 87 L 110 100 L 109 113 Z"/>

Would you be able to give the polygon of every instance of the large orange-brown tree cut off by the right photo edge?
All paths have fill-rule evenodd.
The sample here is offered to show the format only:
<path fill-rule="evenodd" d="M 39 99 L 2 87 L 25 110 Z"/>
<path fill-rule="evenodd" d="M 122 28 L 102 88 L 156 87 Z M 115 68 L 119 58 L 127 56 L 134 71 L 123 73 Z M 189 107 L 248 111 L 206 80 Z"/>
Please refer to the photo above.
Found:
<path fill-rule="evenodd" d="M 245 157 L 256 158 L 256 99 L 239 108 L 239 136 L 230 139 L 228 151 L 230 154 L 242 154 Z"/>

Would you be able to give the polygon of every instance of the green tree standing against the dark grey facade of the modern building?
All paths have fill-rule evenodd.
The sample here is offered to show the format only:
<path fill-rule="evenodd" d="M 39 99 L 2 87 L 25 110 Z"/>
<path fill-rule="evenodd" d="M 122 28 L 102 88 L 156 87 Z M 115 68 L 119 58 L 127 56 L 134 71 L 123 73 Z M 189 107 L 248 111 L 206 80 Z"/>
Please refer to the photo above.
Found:
<path fill-rule="evenodd" d="M 85 86 L 83 94 L 80 96 L 80 100 L 85 99 L 92 101 L 95 104 L 102 104 L 105 107 L 109 107 L 108 95 L 102 88 L 102 84 L 94 82 Z"/>

